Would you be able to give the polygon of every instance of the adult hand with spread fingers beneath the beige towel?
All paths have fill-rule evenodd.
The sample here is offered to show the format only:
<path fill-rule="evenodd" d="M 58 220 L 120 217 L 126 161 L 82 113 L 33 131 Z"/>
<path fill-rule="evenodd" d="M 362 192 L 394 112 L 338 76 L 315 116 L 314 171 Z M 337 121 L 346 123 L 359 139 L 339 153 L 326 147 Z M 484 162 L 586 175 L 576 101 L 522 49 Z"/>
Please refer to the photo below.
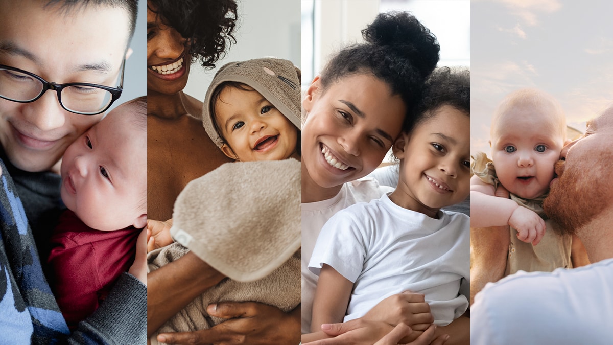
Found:
<path fill-rule="evenodd" d="M 300 308 L 285 313 L 256 302 L 210 304 L 211 316 L 229 319 L 208 330 L 162 333 L 158 341 L 171 344 L 289 344 L 300 343 Z"/>

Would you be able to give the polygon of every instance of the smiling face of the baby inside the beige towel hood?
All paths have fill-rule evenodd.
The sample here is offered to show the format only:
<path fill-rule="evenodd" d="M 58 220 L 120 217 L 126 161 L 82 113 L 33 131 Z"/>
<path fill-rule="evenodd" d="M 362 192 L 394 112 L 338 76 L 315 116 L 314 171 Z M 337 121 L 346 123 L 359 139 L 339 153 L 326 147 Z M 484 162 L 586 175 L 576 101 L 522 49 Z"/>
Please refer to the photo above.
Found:
<path fill-rule="evenodd" d="M 215 104 L 226 139 L 221 150 L 240 161 L 296 157 L 297 128 L 257 91 L 226 87 Z"/>

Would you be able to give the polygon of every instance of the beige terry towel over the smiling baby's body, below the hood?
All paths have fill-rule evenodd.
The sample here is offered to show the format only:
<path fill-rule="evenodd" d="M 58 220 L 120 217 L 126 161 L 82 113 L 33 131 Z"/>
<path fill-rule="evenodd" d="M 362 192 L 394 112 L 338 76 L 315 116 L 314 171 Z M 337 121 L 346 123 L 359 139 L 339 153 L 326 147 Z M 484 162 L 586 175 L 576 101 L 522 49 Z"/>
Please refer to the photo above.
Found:
<path fill-rule="evenodd" d="M 219 301 L 257 301 L 285 312 L 300 304 L 300 162 L 226 163 L 192 180 L 175 202 L 175 243 L 150 252 L 157 269 L 189 250 L 228 276 L 151 336 L 213 327 L 206 308 Z M 185 246 L 185 247 L 184 247 Z"/>

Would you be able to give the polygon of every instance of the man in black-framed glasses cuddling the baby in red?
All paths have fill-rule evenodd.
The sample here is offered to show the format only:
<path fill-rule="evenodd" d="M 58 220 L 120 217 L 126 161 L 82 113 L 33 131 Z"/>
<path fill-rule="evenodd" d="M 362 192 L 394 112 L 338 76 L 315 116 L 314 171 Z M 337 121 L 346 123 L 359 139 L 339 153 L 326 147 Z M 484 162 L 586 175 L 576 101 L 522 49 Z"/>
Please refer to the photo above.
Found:
<path fill-rule="evenodd" d="M 146 339 L 144 257 L 71 334 L 37 250 L 64 208 L 66 148 L 121 95 L 136 12 L 137 0 L 0 0 L 0 343 Z"/>

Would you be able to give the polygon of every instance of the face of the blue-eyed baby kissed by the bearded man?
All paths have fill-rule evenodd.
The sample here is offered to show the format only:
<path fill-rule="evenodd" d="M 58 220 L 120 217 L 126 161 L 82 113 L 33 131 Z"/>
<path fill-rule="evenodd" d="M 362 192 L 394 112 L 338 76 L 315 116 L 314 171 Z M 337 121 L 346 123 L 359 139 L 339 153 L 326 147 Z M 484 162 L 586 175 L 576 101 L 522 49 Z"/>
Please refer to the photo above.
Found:
<path fill-rule="evenodd" d="M 554 177 L 565 126 L 549 107 L 517 106 L 492 128 L 492 161 L 504 188 L 520 198 L 543 195 Z"/>

